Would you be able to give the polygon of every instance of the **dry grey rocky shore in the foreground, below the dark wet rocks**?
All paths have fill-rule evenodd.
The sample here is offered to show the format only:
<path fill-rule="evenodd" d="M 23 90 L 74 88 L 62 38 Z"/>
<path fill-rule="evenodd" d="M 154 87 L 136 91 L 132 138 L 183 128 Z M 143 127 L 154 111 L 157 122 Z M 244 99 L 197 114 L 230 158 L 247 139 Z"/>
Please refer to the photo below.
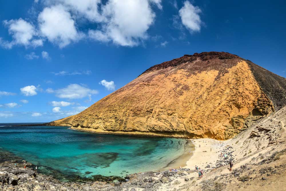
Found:
<path fill-rule="evenodd" d="M 26 166 L 26 168 L 24 168 Z M 52 176 L 37 173 L 34 165 L 22 160 L 5 161 L 0 163 L 0 190 L 156 190 L 162 184 L 176 184 L 176 178 L 193 173 L 190 169 L 182 168 L 177 172 L 143 172 L 130 174 L 126 182 L 115 181 L 87 181 L 87 182 L 61 182 Z M 191 179 L 185 178 L 185 181 Z"/>

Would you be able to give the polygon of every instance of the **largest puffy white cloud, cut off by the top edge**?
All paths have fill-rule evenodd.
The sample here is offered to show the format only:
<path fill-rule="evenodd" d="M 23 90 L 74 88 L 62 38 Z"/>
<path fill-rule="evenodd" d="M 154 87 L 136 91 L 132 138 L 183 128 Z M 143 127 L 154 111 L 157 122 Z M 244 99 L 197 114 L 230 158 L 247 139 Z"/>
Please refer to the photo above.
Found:
<path fill-rule="evenodd" d="M 159 5 L 160 1 L 152 2 Z M 101 30 L 90 30 L 90 38 L 121 46 L 137 46 L 148 37 L 147 30 L 154 22 L 155 13 L 147 0 L 109 0 L 102 6 L 102 17 Z"/>

